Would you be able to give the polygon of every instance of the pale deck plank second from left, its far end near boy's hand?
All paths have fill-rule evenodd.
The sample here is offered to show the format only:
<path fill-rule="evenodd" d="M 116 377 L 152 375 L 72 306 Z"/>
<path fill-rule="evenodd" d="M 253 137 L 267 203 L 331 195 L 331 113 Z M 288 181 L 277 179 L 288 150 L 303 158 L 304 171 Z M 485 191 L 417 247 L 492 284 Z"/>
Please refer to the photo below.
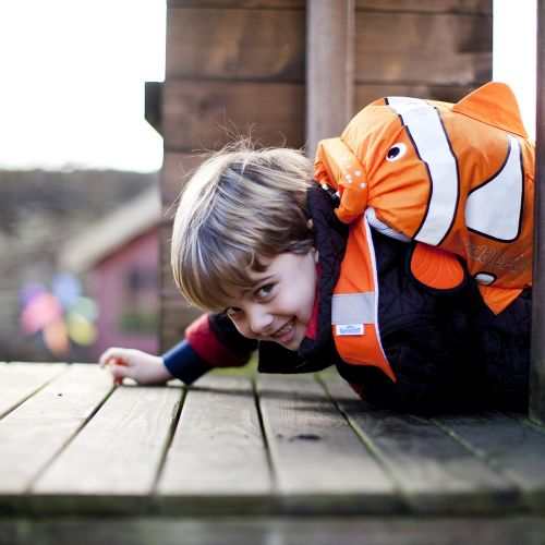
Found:
<path fill-rule="evenodd" d="M 111 378 L 97 366 L 73 364 L 2 419 L 0 496 L 27 491 L 110 391 Z"/>

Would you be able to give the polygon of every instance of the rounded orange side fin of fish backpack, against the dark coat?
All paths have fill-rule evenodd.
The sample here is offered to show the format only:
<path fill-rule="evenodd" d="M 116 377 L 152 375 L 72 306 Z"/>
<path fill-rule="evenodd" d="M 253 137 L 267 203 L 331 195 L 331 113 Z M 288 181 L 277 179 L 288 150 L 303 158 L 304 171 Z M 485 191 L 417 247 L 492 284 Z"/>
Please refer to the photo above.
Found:
<path fill-rule="evenodd" d="M 409 271 L 420 284 L 435 293 L 459 290 L 465 284 L 468 276 L 455 254 L 424 242 L 411 247 Z"/>

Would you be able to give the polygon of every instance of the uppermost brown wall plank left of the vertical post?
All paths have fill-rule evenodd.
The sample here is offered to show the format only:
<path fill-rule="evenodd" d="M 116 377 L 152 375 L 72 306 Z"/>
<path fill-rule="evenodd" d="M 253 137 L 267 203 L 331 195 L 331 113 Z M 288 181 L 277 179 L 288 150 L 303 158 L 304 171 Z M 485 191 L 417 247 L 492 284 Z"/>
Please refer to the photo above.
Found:
<path fill-rule="evenodd" d="M 170 9 L 168 78 L 304 81 L 304 11 Z"/>

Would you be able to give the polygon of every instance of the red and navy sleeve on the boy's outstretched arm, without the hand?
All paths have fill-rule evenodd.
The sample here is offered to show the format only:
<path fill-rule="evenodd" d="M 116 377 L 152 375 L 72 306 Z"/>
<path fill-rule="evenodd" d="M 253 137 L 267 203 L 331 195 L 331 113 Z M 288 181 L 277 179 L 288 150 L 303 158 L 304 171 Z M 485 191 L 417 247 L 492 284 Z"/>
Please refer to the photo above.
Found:
<path fill-rule="evenodd" d="M 162 354 L 168 372 L 185 384 L 214 367 L 247 363 L 257 341 L 246 339 L 225 313 L 203 314 L 187 329 L 185 339 Z"/>

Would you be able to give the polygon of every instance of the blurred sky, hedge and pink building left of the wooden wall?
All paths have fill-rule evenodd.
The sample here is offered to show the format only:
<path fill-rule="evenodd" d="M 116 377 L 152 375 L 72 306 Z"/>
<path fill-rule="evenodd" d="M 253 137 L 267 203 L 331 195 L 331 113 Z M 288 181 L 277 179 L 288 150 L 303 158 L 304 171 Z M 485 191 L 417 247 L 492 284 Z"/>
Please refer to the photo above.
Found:
<path fill-rule="evenodd" d="M 166 2 L 0 3 L 0 360 L 157 351 Z"/>

